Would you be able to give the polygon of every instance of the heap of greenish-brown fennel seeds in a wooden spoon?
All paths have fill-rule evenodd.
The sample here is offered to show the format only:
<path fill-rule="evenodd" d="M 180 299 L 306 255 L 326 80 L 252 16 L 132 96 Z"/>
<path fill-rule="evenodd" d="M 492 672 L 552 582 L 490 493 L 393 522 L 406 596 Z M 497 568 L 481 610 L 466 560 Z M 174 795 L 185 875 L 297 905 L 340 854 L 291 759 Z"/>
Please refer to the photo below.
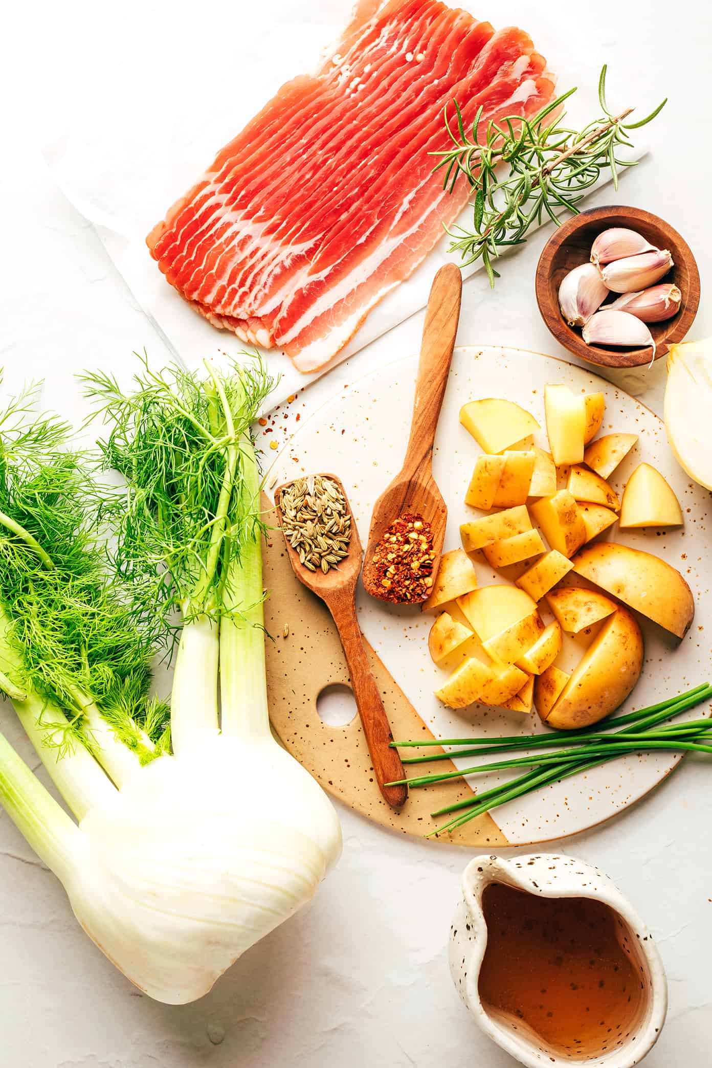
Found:
<path fill-rule="evenodd" d="M 300 563 L 326 575 L 348 555 L 351 517 L 339 487 L 330 478 L 308 475 L 283 490 L 280 507 L 284 534 Z"/>

